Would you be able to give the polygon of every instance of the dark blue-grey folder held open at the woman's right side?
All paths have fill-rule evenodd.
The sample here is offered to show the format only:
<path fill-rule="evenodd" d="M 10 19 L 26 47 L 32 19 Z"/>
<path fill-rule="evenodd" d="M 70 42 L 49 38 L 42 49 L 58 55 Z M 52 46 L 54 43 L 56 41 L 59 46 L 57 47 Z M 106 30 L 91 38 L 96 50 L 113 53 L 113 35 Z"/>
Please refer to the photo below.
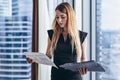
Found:
<path fill-rule="evenodd" d="M 88 71 L 95 71 L 95 72 L 105 72 L 105 69 L 95 61 L 86 61 L 86 62 L 79 62 L 79 63 L 66 63 L 60 65 L 60 67 L 71 70 L 73 72 L 77 72 L 79 68 L 86 67 Z"/>

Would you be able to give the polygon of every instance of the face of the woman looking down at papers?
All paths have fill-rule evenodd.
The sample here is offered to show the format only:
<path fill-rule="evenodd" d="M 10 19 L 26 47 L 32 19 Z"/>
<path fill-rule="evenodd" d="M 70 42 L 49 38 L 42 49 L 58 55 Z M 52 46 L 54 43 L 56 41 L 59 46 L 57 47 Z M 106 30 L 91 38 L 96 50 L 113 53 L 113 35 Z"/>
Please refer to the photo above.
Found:
<path fill-rule="evenodd" d="M 59 10 L 56 10 L 56 21 L 61 28 L 66 27 L 67 14 L 62 13 Z"/>

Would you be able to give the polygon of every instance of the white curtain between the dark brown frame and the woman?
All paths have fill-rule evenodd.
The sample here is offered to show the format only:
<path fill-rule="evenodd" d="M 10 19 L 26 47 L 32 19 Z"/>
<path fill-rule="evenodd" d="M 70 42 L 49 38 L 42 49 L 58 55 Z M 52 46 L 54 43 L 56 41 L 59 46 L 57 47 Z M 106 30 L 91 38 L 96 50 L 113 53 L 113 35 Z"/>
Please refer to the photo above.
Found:
<path fill-rule="evenodd" d="M 39 52 L 45 54 L 47 48 L 47 30 L 52 28 L 55 7 L 63 0 L 39 0 Z M 51 67 L 39 65 L 39 80 L 51 80 Z"/>

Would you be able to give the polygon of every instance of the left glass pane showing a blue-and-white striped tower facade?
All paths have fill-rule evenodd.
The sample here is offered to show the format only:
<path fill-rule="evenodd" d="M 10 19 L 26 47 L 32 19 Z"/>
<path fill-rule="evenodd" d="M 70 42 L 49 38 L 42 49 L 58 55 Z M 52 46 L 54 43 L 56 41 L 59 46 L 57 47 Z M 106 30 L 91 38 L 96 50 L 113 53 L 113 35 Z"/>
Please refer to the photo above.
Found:
<path fill-rule="evenodd" d="M 31 80 L 31 49 L 32 0 L 0 0 L 0 80 Z"/>

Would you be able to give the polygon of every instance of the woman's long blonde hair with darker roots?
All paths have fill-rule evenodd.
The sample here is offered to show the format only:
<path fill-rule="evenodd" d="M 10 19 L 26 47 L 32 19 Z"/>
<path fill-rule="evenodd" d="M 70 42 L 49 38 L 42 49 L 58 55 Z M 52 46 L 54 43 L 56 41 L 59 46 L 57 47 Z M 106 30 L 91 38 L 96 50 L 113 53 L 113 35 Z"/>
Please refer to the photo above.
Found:
<path fill-rule="evenodd" d="M 76 23 L 76 17 L 75 17 L 74 10 L 73 10 L 72 6 L 67 2 L 63 2 L 63 3 L 59 4 L 56 7 L 55 11 L 56 10 L 59 10 L 60 12 L 67 14 L 66 25 L 68 28 L 68 33 L 71 36 L 72 51 L 75 47 L 77 57 L 80 59 L 81 43 L 80 43 L 80 38 L 79 38 L 79 31 L 77 30 L 77 23 Z M 53 55 L 53 51 L 56 48 L 56 44 L 57 44 L 59 36 L 62 32 L 62 29 L 58 25 L 56 18 L 54 18 L 52 27 L 53 27 L 54 34 L 52 37 L 52 43 L 51 43 L 51 49 L 50 49 L 51 55 Z"/>

